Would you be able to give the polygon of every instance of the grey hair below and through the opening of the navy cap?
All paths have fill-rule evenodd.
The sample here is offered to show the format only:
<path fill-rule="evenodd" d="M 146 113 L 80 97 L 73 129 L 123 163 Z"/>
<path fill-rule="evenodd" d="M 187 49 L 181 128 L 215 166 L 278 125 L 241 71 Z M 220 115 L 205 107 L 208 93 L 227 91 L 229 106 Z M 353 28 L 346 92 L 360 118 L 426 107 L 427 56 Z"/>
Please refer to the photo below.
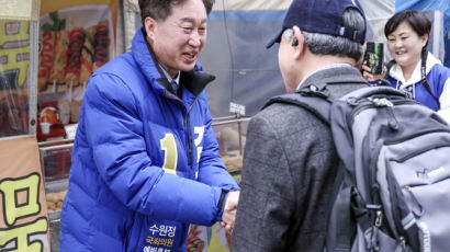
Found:
<path fill-rule="evenodd" d="M 364 31 L 365 22 L 361 13 L 353 8 L 344 12 L 342 26 L 353 31 Z M 362 45 L 347 37 L 302 31 L 310 50 L 316 55 L 338 55 L 359 60 L 362 56 Z"/>

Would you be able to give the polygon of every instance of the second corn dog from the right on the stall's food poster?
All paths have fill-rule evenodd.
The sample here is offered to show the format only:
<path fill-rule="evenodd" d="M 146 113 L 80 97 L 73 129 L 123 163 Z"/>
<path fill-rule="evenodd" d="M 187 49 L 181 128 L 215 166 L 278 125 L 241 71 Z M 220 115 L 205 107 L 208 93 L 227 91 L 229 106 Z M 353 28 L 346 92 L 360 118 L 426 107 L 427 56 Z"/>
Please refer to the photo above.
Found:
<path fill-rule="evenodd" d="M 95 26 L 91 26 L 85 31 L 86 39 L 81 49 L 81 69 L 80 69 L 80 83 L 87 83 L 89 77 L 91 77 L 93 53 L 94 53 L 94 41 L 93 36 L 95 34 Z"/>

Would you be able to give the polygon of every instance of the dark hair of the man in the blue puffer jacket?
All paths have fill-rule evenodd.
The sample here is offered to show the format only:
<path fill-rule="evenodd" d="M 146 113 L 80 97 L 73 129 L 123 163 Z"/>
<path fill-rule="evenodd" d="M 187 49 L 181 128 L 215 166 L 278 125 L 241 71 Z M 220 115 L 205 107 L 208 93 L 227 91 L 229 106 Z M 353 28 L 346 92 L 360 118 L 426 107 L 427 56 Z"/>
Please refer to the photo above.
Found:
<path fill-rule="evenodd" d="M 166 20 L 172 13 L 172 7 L 183 3 L 185 0 L 139 0 L 140 19 L 144 21 L 147 16 L 155 20 Z M 206 14 L 210 14 L 215 0 L 203 0 Z"/>

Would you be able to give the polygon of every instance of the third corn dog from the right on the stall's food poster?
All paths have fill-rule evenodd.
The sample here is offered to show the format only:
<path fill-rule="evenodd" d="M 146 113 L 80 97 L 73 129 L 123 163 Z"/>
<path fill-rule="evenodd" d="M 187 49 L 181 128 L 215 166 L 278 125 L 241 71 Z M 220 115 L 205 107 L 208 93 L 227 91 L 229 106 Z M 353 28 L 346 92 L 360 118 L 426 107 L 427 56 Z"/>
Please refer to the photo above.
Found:
<path fill-rule="evenodd" d="M 80 82 L 81 48 L 85 44 L 85 31 L 75 27 L 69 32 L 69 49 L 67 51 L 66 85 L 78 85 Z"/>

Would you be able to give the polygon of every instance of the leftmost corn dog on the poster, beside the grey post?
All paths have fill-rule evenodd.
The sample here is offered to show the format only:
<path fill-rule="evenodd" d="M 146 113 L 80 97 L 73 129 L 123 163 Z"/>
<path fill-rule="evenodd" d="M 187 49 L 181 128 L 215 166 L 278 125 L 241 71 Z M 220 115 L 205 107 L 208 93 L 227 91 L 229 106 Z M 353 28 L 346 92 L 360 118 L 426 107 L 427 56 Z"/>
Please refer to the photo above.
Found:
<path fill-rule="evenodd" d="M 42 33 L 42 50 L 40 54 L 38 88 L 44 90 L 47 87 L 48 76 L 53 65 L 55 47 L 55 33 L 45 31 Z"/>

